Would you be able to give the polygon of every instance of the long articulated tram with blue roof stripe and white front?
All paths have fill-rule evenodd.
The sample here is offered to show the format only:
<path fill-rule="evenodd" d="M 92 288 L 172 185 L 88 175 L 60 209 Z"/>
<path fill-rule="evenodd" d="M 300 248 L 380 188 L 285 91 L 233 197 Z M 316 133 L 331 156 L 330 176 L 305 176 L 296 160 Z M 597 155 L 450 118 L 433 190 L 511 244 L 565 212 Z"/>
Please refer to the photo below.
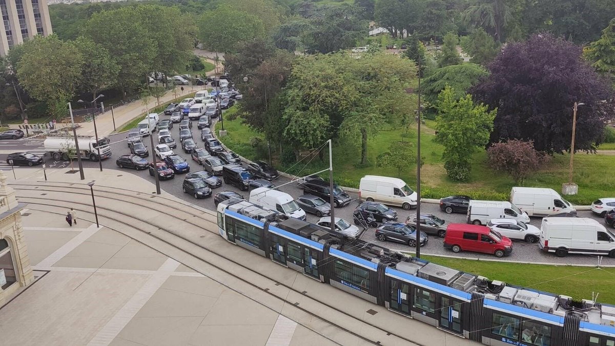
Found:
<path fill-rule="evenodd" d="M 227 241 L 460 337 L 485 345 L 615 346 L 611 305 L 584 300 L 573 308 L 569 297 L 492 283 L 239 199 L 217 211 Z"/>

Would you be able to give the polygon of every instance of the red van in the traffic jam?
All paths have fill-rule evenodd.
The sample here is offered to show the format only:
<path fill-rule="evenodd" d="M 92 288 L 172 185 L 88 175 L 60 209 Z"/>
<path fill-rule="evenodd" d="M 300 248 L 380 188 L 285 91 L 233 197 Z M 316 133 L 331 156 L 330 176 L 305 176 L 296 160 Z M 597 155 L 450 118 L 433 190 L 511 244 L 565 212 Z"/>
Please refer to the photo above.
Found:
<path fill-rule="evenodd" d="M 503 257 L 512 252 L 512 241 L 486 226 L 450 223 L 446 227 L 444 247 L 453 252 L 474 251 Z"/>

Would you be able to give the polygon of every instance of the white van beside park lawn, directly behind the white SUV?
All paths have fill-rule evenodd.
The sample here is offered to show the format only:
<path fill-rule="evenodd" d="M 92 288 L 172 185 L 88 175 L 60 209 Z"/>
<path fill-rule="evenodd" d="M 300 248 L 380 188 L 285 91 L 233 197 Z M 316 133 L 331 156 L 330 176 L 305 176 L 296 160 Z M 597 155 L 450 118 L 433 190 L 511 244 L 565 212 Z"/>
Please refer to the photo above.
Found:
<path fill-rule="evenodd" d="M 513 187 L 510 203 L 514 203 L 530 216 L 549 216 L 560 212 L 576 214 L 576 209 L 552 188 Z"/>

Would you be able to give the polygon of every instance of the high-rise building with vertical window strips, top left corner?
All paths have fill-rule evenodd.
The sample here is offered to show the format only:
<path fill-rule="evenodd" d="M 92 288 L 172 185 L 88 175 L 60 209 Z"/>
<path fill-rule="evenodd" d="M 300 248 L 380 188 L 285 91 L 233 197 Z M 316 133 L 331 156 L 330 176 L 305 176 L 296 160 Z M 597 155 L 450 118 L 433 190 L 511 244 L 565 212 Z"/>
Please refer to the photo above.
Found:
<path fill-rule="evenodd" d="M 0 28 L 0 55 L 34 35 L 52 33 L 47 0 L 0 0 L 4 30 Z"/>

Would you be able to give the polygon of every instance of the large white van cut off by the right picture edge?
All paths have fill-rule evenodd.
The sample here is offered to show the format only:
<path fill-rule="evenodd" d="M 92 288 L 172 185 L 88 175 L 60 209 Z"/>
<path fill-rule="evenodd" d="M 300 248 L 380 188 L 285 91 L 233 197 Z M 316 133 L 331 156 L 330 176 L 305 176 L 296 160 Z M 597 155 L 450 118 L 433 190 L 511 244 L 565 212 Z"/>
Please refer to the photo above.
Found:
<path fill-rule="evenodd" d="M 558 257 L 568 253 L 615 257 L 615 235 L 600 222 L 584 217 L 545 217 L 538 246 Z"/>

